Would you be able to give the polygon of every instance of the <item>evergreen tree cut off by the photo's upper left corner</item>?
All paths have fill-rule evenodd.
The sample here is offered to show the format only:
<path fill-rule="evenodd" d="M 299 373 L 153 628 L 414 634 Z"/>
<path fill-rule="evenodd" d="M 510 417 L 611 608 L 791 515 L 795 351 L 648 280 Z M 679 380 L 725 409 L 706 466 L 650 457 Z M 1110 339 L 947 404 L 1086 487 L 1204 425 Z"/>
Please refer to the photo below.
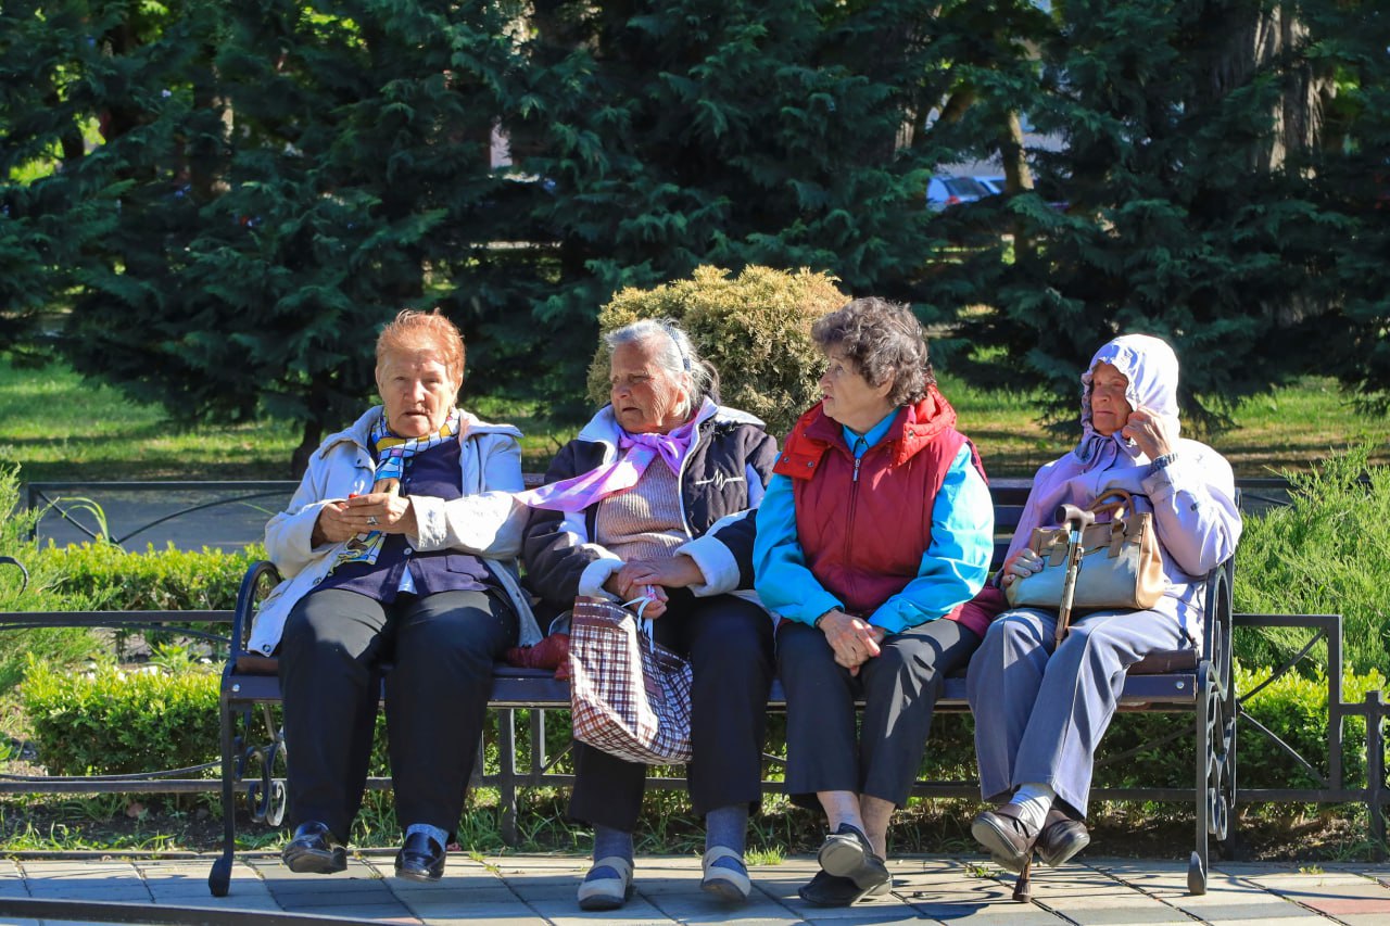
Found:
<path fill-rule="evenodd" d="M 133 103 L 165 86 L 178 14 L 125 3 L 0 6 L 0 345 L 32 352 L 118 228 L 133 181 L 106 145 L 153 133 Z M 51 327 L 51 323 L 43 325 Z"/>

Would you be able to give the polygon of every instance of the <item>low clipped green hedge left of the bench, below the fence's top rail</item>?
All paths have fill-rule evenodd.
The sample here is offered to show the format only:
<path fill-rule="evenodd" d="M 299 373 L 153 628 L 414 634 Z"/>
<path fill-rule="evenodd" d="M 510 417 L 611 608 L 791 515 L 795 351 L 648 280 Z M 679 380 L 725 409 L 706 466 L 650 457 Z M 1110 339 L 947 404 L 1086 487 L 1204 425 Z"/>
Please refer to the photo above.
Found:
<path fill-rule="evenodd" d="M 31 660 L 19 702 L 50 774 L 185 767 L 221 754 L 218 677 L 217 666 L 197 663 L 71 672 Z"/>

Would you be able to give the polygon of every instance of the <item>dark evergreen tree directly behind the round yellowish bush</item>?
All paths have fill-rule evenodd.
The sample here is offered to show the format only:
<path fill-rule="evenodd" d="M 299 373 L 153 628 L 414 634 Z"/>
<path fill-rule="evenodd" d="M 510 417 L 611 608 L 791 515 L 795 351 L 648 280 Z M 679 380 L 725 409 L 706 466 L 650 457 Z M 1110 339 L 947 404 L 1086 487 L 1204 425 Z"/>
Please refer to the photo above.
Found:
<path fill-rule="evenodd" d="M 574 332 L 573 389 L 595 309 L 708 263 L 808 267 L 851 292 L 910 298 L 942 242 L 926 163 L 897 140 L 922 83 L 931 4 L 916 0 L 614 0 L 537 6 L 534 99 L 512 127 L 555 185 L 560 242 L 543 324 Z"/>

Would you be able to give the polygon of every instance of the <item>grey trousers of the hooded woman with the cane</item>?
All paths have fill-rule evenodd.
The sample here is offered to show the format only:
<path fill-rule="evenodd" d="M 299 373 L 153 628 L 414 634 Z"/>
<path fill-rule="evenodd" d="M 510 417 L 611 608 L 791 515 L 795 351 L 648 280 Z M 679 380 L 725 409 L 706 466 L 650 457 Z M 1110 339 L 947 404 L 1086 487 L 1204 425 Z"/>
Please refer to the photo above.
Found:
<path fill-rule="evenodd" d="M 1176 617 L 1102 610 L 1073 620 L 1052 652 L 1056 615 L 999 615 L 970 660 L 966 695 L 986 799 L 1041 783 L 1080 813 L 1095 747 L 1111 724 L 1125 672 L 1151 652 L 1191 645 Z"/>

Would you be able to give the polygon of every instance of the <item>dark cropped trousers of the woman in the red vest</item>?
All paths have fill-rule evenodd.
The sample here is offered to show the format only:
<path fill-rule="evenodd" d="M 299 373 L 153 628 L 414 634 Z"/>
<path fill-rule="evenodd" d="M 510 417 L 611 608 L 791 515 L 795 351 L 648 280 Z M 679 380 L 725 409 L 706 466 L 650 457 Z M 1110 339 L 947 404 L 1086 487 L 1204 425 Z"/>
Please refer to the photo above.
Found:
<path fill-rule="evenodd" d="M 835 665 L 826 635 L 801 622 L 777 630 L 777 669 L 787 692 L 787 794 L 817 808 L 820 791 L 851 791 L 902 806 L 922 767 L 931 712 L 948 674 L 980 638 L 955 620 L 931 620 L 884 637 L 858 676 Z M 863 726 L 855 736 L 855 699 Z"/>

